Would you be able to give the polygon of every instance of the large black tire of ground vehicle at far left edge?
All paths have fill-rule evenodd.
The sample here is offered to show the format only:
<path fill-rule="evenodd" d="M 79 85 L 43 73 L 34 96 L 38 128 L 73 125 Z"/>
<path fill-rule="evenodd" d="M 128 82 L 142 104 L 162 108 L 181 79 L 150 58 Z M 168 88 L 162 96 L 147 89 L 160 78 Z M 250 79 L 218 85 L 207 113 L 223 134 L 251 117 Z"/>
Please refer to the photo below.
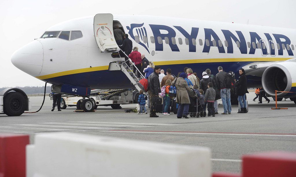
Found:
<path fill-rule="evenodd" d="M 28 103 L 19 92 L 9 92 L 4 96 L 4 113 L 8 116 L 20 116 L 25 112 Z"/>

